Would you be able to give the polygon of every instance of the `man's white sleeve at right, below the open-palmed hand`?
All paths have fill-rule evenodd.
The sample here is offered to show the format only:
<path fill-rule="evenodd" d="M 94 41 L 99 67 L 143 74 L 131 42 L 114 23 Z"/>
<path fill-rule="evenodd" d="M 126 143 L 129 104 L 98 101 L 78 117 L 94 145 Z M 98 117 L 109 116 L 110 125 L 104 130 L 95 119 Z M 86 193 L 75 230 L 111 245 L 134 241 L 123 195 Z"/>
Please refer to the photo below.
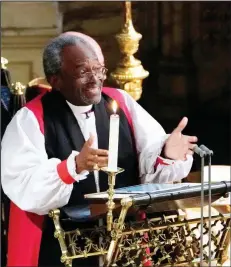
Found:
<path fill-rule="evenodd" d="M 128 93 L 119 91 L 123 94 L 132 116 L 141 182 L 170 183 L 185 178 L 192 167 L 192 156 L 187 155 L 185 161 L 161 158 L 160 154 L 168 135 Z"/>

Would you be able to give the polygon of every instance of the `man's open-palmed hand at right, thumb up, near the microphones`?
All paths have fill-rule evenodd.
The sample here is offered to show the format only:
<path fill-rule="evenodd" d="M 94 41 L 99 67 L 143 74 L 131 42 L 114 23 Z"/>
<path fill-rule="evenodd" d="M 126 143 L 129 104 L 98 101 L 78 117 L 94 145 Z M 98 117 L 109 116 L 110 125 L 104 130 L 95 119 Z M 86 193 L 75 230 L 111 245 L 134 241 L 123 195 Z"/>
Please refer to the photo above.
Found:
<path fill-rule="evenodd" d="M 173 130 L 165 143 L 164 157 L 173 160 L 185 160 L 187 154 L 193 154 L 193 148 L 195 147 L 193 143 L 197 142 L 197 137 L 181 133 L 187 124 L 188 118 L 184 117 Z"/>

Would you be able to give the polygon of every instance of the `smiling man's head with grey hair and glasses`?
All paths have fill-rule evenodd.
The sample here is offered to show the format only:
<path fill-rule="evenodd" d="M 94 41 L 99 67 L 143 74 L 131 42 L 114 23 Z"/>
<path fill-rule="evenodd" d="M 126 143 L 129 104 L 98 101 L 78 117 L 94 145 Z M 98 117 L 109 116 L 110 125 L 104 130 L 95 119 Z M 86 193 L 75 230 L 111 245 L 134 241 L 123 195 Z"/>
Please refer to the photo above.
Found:
<path fill-rule="evenodd" d="M 47 80 L 74 105 L 98 103 L 105 80 L 104 58 L 91 37 L 77 32 L 62 33 L 43 53 Z"/>

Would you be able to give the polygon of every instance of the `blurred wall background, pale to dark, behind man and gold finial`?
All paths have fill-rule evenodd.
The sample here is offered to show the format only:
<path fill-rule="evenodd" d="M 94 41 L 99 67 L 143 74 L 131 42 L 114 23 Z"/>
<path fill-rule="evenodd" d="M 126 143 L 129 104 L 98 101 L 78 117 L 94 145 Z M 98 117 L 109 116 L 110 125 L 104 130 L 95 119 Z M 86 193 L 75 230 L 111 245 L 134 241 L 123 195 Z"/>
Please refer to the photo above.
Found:
<path fill-rule="evenodd" d="M 99 42 L 109 73 L 118 64 L 124 2 L 2 2 L 1 15 L 13 81 L 44 76 L 44 45 L 68 30 Z M 231 3 L 132 2 L 132 19 L 142 35 L 135 57 L 149 71 L 138 102 L 167 132 L 188 116 L 185 134 L 214 150 L 213 164 L 230 165 Z"/>

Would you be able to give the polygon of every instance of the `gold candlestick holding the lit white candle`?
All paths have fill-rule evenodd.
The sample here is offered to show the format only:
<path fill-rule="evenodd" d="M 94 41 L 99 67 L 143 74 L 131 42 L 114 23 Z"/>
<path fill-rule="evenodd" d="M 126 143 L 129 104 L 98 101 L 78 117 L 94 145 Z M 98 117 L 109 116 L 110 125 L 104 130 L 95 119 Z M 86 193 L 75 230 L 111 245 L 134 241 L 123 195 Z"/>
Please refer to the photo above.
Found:
<path fill-rule="evenodd" d="M 106 172 L 108 175 L 108 202 L 107 204 L 107 231 L 112 230 L 112 224 L 113 224 L 113 209 L 115 208 L 115 202 L 114 202 L 114 193 L 115 193 L 115 179 L 116 175 L 123 172 L 124 169 L 118 168 L 116 172 L 109 171 L 107 167 L 102 168 L 102 171 Z"/>

